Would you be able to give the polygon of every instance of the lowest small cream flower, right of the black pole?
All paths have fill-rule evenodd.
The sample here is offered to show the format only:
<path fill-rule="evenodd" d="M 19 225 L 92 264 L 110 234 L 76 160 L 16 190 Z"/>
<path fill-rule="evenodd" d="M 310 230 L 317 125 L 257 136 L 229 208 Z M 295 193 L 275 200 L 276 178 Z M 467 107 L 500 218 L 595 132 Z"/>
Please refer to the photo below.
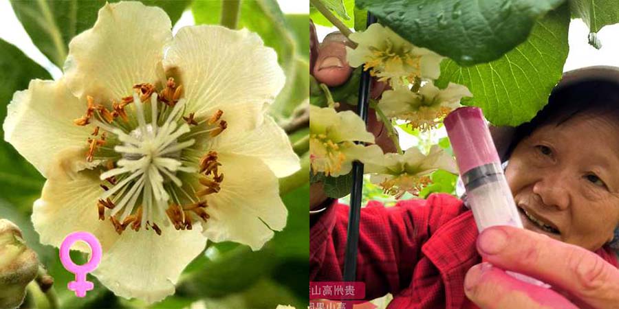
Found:
<path fill-rule="evenodd" d="M 395 198 L 406 192 L 417 195 L 431 183 L 430 174 L 438 169 L 457 173 L 453 157 L 437 145 L 430 148 L 428 155 L 413 147 L 403 155 L 386 153 L 382 158 L 365 163 L 365 172 L 372 173 L 370 181 Z"/>

